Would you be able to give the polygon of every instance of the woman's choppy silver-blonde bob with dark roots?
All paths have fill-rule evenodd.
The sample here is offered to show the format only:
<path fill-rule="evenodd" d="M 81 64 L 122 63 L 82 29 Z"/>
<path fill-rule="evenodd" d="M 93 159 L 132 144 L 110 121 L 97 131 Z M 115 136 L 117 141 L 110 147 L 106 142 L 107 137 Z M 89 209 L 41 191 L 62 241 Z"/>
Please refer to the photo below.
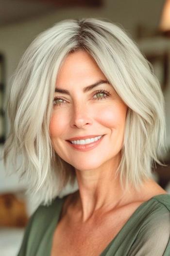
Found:
<path fill-rule="evenodd" d="M 49 133 L 56 78 L 64 59 L 87 51 L 128 106 L 122 158 L 117 169 L 123 190 L 152 177 L 166 151 L 164 98 L 152 65 L 120 25 L 107 19 L 62 20 L 38 35 L 11 79 L 8 100 L 10 133 L 3 159 L 28 181 L 27 193 L 48 205 L 68 184 L 74 167 L 61 159 Z M 21 156 L 20 166 L 17 158 Z M 159 158 L 159 159 L 158 159 Z"/>

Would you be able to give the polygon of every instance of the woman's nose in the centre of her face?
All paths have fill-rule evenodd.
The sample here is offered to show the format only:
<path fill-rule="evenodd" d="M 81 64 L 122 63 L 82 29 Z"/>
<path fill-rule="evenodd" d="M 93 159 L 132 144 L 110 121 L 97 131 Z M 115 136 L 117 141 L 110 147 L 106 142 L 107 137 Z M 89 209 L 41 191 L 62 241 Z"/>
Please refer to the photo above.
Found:
<path fill-rule="evenodd" d="M 92 110 L 90 110 L 85 102 L 77 103 L 74 105 L 70 120 L 72 128 L 83 128 L 86 125 L 92 124 Z"/>

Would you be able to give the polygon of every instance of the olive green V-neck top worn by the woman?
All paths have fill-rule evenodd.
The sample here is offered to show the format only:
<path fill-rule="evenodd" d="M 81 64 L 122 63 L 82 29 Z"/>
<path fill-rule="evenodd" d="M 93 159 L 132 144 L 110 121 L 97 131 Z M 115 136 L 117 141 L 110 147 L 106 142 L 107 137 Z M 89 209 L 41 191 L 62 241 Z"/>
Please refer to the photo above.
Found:
<path fill-rule="evenodd" d="M 40 205 L 30 217 L 17 256 L 50 256 L 65 197 Z M 170 195 L 142 203 L 100 256 L 170 256 Z"/>

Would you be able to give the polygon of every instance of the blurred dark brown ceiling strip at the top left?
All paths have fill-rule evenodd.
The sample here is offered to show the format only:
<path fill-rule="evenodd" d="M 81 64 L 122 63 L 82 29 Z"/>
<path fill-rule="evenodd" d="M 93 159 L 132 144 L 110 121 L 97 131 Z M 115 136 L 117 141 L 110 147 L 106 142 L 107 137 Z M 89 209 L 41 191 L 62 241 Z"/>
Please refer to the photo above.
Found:
<path fill-rule="evenodd" d="M 0 26 L 47 14 L 62 7 L 101 6 L 102 0 L 0 0 Z"/>

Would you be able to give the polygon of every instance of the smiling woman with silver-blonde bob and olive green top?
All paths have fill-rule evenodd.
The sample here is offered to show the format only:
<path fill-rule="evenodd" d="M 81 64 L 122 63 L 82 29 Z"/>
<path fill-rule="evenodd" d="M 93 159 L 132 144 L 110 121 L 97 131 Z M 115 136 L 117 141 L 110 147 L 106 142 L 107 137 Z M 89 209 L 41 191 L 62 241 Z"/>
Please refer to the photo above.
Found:
<path fill-rule="evenodd" d="M 123 29 L 90 18 L 40 34 L 8 108 L 5 162 L 22 156 L 17 171 L 41 204 L 18 256 L 170 255 L 170 195 L 151 172 L 164 149 L 164 99 Z"/>

